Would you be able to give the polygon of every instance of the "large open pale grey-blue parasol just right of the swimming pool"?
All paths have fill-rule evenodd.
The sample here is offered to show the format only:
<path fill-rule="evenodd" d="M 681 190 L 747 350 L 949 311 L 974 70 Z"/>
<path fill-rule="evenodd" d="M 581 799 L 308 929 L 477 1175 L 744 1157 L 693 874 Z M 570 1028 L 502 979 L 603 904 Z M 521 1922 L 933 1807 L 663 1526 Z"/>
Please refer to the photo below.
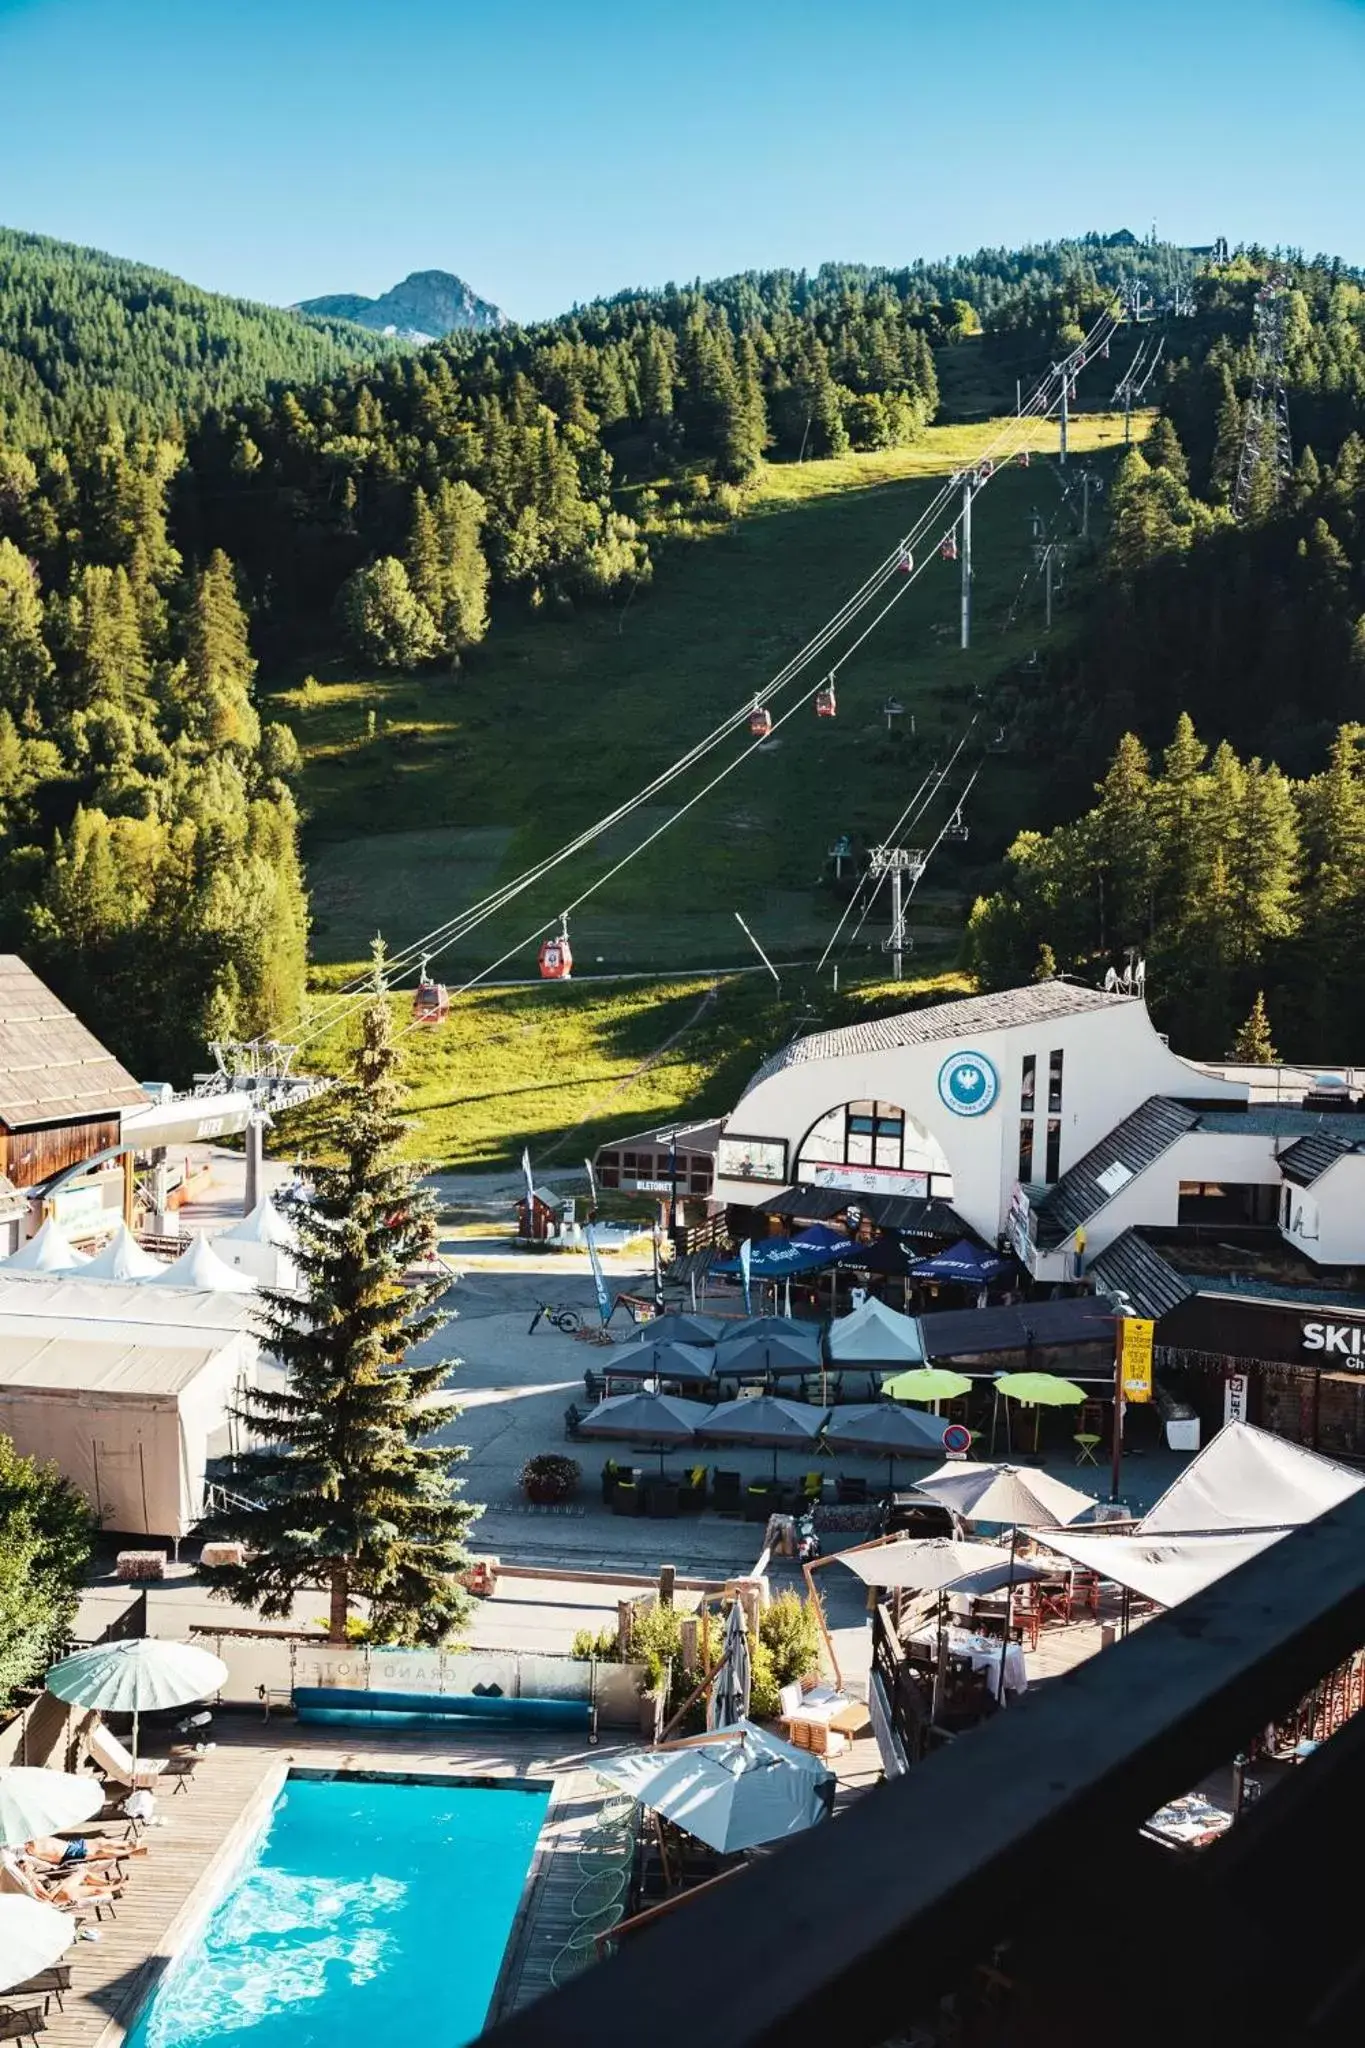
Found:
<path fill-rule="evenodd" d="M 593 1769 L 722 1855 L 814 1827 L 835 1784 L 819 1757 L 751 1720 L 686 1749 L 641 1749 Z"/>

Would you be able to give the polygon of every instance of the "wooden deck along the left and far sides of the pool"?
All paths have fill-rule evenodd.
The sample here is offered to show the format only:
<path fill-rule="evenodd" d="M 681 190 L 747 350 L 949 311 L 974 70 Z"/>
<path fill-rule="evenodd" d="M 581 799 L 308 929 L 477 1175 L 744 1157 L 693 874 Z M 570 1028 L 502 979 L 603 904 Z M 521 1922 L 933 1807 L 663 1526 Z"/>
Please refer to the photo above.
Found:
<path fill-rule="evenodd" d="M 370 1743 L 338 1741 L 346 1733 L 301 1729 L 293 1720 L 217 1718 L 217 1747 L 207 1753 L 192 1784 L 158 1798 L 158 1817 L 166 1825 L 147 1829 L 149 1853 L 131 1864 L 119 1917 L 106 1915 L 98 1923 L 98 1942 L 76 1942 L 68 1950 L 72 1989 L 65 2013 L 55 2001 L 51 2005 L 43 2048 L 117 2048 L 123 2042 L 143 1995 L 211 1909 L 291 1763 L 452 1778 L 553 1778 L 563 1772 L 565 1786 L 577 1786 L 579 1796 L 593 1784 L 581 1765 L 591 1763 L 596 1751 L 542 1731 L 481 1731 L 479 1739 L 434 1731 Z M 98 1827 L 88 1833 L 98 1833 Z M 4 2003 L 31 2001 L 0 1997 Z M 41 2005 L 41 1999 L 33 2003 Z"/>

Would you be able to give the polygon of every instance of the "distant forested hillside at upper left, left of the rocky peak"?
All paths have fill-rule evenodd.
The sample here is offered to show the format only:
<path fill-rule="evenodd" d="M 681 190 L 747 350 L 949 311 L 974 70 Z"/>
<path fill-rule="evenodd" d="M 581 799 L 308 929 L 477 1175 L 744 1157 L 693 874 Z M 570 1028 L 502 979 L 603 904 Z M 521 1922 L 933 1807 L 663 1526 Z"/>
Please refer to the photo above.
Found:
<path fill-rule="evenodd" d="M 199 291 L 164 270 L 0 227 L 0 446 L 78 422 L 160 430 L 274 383 L 311 383 L 393 342 Z"/>

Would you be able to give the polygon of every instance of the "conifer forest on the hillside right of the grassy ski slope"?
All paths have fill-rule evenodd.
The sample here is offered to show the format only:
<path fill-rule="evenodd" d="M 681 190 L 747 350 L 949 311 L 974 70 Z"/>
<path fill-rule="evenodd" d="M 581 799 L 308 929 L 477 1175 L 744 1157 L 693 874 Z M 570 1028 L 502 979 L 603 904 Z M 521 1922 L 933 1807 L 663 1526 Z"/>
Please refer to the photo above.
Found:
<path fill-rule="evenodd" d="M 1267 274 L 1287 295 L 1293 473 L 1277 489 L 1257 463 L 1236 518 Z M 1087 975 L 1136 946 L 1183 1049 L 1224 1053 L 1263 989 L 1281 1053 L 1351 1057 L 1365 1032 L 1365 291 L 1340 266 L 1240 260 L 1201 281 L 1199 307 L 1162 418 L 1115 477 L 1081 633 L 1021 707 L 1076 811 L 1085 768 L 1115 750 L 1099 803 L 1017 840 L 1007 887 L 976 905 L 972 961 L 1003 983 L 1044 946 Z"/>

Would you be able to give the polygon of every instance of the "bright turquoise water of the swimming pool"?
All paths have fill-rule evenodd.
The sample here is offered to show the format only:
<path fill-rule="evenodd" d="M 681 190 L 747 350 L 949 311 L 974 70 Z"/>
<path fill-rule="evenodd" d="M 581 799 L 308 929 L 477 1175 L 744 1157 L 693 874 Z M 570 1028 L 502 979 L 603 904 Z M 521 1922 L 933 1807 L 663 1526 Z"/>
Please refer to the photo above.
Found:
<path fill-rule="evenodd" d="M 473 2040 L 546 1804 L 548 1792 L 291 1778 L 127 2048 Z"/>

